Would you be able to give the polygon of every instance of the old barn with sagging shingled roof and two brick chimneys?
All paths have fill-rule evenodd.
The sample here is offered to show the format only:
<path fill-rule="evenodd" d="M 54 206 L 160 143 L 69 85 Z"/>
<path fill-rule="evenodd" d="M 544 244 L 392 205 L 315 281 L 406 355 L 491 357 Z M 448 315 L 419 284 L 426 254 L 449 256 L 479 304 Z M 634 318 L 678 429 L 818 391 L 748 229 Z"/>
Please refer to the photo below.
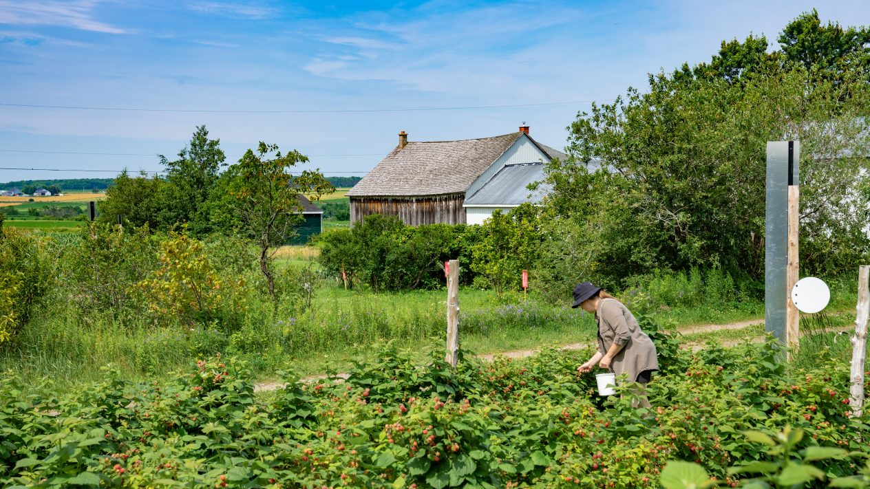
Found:
<path fill-rule="evenodd" d="M 479 207 L 466 207 L 466 199 L 481 191 L 500 171 L 523 164 L 540 164 L 535 167 L 539 170 L 543 163 L 564 157 L 561 151 L 532 139 L 527 125 L 502 136 L 459 141 L 409 142 L 402 131 L 398 146 L 347 192 L 351 223 L 375 213 L 398 216 L 412 225 L 469 223 L 469 209 L 485 209 L 484 204 L 493 209 L 515 206 L 514 202 L 531 193 L 525 189 L 520 197 L 523 191 L 513 188 L 514 198 L 510 201 L 484 202 L 489 199 L 481 198 Z M 507 174 L 519 178 L 518 172 L 525 175 L 526 170 L 507 171 L 500 181 L 516 184 Z M 497 193 L 496 185 L 490 185 L 487 193 Z M 476 216 L 485 211 L 471 212 Z M 478 218 L 472 219 L 476 222 Z"/>

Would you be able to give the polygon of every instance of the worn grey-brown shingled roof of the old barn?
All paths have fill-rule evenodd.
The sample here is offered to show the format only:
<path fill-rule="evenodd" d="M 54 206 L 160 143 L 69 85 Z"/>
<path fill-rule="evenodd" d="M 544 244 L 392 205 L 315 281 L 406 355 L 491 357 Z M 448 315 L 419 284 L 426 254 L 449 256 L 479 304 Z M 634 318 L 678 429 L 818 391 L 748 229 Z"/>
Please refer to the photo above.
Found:
<path fill-rule="evenodd" d="M 512 132 L 460 141 L 409 141 L 404 148 L 396 146 L 347 196 L 463 193 L 521 134 Z"/>

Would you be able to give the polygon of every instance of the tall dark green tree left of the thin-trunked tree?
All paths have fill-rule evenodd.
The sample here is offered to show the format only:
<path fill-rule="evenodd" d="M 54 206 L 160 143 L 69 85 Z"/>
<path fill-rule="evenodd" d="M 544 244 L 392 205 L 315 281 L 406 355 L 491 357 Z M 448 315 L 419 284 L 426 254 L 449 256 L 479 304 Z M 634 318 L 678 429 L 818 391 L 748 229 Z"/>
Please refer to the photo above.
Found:
<path fill-rule="evenodd" d="M 220 149 L 220 139 L 208 136 L 204 125 L 197 126 L 191 143 L 178 151 L 177 160 L 169 161 L 160 156 L 166 168 L 165 204 L 160 220 L 168 225 L 188 223 L 188 231 L 194 236 L 212 231 L 205 202 L 214 190 L 218 171 L 226 159 Z"/>

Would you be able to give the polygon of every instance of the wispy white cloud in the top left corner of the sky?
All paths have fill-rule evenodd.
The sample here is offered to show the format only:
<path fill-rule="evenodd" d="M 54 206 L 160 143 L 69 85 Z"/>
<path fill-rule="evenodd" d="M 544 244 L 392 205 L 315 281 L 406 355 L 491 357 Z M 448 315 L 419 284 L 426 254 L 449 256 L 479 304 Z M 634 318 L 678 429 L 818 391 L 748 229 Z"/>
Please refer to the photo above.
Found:
<path fill-rule="evenodd" d="M 100 0 L 72 2 L 0 0 L 0 23 L 11 25 L 55 25 L 80 30 L 124 34 L 126 30 L 95 20 L 91 12 Z"/>

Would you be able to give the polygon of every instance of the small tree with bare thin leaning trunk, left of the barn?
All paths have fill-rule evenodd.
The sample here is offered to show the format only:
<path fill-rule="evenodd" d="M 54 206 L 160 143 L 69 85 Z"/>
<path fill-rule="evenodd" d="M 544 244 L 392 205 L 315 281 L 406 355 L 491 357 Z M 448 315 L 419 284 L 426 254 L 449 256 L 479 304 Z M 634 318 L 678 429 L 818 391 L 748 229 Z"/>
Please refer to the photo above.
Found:
<path fill-rule="evenodd" d="M 302 222 L 299 196 L 312 195 L 315 200 L 335 187 L 319 171 L 302 171 L 293 176 L 288 171 L 308 157 L 293 150 L 285 155 L 277 144 L 260 142 L 257 152 L 248 150 L 232 164 L 227 173 L 232 209 L 242 224 L 242 233 L 259 249 L 260 271 L 269 285 L 269 295 L 275 298 L 275 278 L 271 260 L 278 246 L 286 244 Z"/>

